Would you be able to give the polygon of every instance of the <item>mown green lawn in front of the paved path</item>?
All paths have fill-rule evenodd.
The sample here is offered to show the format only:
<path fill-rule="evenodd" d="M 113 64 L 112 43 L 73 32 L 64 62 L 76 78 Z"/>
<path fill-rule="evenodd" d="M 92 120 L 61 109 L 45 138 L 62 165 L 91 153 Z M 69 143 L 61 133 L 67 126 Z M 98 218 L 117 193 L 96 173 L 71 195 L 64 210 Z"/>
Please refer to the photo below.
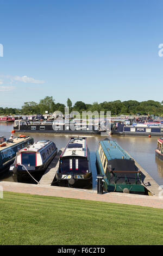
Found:
<path fill-rule="evenodd" d="M 162 245 L 163 210 L 4 192 L 0 245 Z"/>

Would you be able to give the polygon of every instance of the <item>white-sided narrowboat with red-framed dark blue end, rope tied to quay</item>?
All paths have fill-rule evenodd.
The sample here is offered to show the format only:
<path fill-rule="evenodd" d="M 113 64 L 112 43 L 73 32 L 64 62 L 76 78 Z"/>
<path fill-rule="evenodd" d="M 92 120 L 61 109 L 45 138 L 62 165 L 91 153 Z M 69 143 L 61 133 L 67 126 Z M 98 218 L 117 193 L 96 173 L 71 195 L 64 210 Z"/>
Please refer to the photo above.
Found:
<path fill-rule="evenodd" d="M 14 181 L 35 183 L 35 179 L 41 178 L 56 154 L 55 143 L 48 140 L 37 141 L 19 150 L 14 164 L 10 167 Z"/>

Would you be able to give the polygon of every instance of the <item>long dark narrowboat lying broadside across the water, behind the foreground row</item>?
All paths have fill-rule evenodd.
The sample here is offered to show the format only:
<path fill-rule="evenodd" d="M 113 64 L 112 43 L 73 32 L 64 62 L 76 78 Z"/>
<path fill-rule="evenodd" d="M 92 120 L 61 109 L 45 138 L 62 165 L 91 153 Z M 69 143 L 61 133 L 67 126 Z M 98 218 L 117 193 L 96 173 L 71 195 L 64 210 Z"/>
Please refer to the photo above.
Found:
<path fill-rule="evenodd" d="M 78 135 L 100 135 L 101 127 L 95 125 L 74 124 L 73 127 L 65 120 L 30 122 L 29 120 L 16 120 L 14 122 L 15 132 L 39 132 L 57 134 L 78 134 Z"/>

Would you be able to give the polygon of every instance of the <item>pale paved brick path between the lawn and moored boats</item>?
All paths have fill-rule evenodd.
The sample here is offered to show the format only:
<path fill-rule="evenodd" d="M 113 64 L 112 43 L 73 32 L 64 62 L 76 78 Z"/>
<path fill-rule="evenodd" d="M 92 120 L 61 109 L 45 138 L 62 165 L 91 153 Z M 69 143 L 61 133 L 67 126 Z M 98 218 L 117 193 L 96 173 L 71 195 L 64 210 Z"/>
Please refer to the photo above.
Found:
<path fill-rule="evenodd" d="M 97 194 L 97 191 L 81 190 L 77 188 L 57 187 L 49 185 L 24 184 L 17 182 L 1 181 L 0 186 L 3 191 L 16 193 L 37 194 L 40 196 L 76 198 L 83 200 L 101 201 L 108 203 L 130 204 L 148 206 L 163 209 L 163 191 L 159 196 L 141 196 L 136 194 L 124 193 L 104 193 Z"/>

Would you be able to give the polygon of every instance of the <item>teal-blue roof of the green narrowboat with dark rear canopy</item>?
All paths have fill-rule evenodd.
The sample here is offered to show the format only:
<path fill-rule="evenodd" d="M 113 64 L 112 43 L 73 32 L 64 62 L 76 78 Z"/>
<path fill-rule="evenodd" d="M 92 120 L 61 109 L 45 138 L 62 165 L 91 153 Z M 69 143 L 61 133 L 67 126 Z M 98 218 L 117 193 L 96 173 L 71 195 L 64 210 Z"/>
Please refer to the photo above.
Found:
<path fill-rule="evenodd" d="M 102 146 L 104 154 L 107 160 L 113 159 L 127 159 L 131 160 L 131 157 L 124 151 L 118 143 L 111 140 L 104 140 L 99 142 Z"/>

